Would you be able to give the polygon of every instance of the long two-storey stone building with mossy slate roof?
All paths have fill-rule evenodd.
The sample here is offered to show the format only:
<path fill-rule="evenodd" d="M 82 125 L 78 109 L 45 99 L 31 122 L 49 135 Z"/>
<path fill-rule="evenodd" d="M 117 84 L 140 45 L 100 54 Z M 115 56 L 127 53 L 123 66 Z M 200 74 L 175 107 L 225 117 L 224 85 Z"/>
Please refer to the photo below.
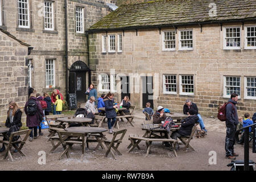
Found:
<path fill-rule="evenodd" d="M 98 94 L 117 93 L 118 101 L 127 94 L 139 108 L 151 102 L 155 109 L 177 112 L 188 98 L 201 114 L 216 116 L 236 92 L 238 113 L 253 114 L 255 5 L 255 0 L 166 0 L 119 6 L 89 28 Z"/>

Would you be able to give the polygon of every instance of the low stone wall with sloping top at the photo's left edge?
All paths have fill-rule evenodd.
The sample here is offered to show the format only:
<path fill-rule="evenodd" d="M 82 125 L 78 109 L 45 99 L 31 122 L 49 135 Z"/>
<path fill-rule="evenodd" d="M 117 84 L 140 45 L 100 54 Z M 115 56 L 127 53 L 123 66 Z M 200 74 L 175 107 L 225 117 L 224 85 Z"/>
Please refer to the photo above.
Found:
<path fill-rule="evenodd" d="M 23 106 L 27 100 L 25 63 L 29 46 L 0 28 L 0 121 L 6 120 L 10 101 Z"/>

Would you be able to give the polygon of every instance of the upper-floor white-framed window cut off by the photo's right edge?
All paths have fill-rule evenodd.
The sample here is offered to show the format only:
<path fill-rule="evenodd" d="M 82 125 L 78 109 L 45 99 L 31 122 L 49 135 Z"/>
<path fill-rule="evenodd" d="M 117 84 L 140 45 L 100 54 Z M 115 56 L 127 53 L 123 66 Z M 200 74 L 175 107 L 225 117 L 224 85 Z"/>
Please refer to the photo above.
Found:
<path fill-rule="evenodd" d="M 256 49 L 256 26 L 245 27 L 245 49 Z"/>

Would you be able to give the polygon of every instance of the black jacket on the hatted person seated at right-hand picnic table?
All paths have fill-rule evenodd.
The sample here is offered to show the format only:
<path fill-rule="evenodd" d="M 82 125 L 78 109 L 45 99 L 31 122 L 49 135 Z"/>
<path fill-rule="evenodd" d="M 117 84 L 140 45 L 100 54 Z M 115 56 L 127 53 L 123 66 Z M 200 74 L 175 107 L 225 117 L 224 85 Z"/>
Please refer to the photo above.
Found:
<path fill-rule="evenodd" d="M 192 132 L 192 127 L 197 123 L 199 117 L 197 115 L 190 115 L 189 117 L 181 121 L 181 127 L 179 129 L 179 134 L 182 136 L 189 136 Z"/>

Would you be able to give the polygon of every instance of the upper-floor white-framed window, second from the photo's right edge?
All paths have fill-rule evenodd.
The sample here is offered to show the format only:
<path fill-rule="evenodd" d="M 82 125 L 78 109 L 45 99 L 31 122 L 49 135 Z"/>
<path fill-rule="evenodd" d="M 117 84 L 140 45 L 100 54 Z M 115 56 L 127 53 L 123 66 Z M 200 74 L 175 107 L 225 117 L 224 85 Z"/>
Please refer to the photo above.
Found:
<path fill-rule="evenodd" d="M 241 48 L 241 27 L 224 27 L 224 49 Z"/>

